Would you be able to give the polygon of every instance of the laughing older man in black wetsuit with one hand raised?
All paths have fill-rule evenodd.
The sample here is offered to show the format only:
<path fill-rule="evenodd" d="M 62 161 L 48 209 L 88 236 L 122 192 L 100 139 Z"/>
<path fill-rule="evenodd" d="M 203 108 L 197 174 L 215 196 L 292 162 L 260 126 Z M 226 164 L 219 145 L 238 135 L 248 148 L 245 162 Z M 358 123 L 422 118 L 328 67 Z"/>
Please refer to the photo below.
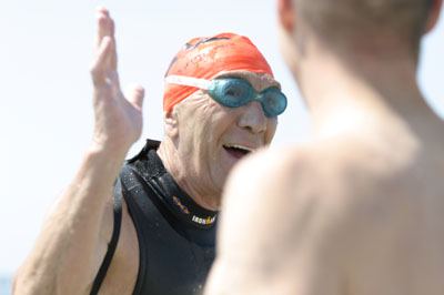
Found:
<path fill-rule="evenodd" d="M 200 294 L 226 174 L 271 142 L 286 99 L 248 38 L 193 39 L 167 73 L 162 143 L 148 141 L 121 170 L 141 133 L 143 89 L 122 95 L 113 20 L 98 14 L 94 136 L 14 294 Z"/>

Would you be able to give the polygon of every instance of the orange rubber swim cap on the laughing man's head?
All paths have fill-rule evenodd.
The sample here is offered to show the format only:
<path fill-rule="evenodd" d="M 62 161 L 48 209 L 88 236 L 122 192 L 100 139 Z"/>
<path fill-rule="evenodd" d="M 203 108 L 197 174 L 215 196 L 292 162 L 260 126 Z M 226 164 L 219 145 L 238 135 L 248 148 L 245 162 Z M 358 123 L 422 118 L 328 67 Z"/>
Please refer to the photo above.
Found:
<path fill-rule="evenodd" d="M 220 33 L 209 38 L 190 40 L 172 60 L 170 74 L 211 79 L 222 71 L 245 70 L 273 77 L 269 63 L 249 38 L 234 33 Z M 194 87 L 165 84 L 163 110 L 198 91 Z"/>

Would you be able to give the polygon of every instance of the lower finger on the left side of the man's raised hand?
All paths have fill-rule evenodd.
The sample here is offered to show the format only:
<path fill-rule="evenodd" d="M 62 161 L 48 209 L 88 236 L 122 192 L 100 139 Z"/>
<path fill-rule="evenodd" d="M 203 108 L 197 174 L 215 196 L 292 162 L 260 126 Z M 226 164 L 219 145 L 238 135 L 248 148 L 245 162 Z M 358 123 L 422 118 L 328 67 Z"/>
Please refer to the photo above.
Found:
<path fill-rule="evenodd" d="M 112 43 L 113 41 L 110 37 L 104 37 L 98 49 L 98 54 L 91 65 L 91 75 L 94 85 L 105 82 L 107 73 L 109 71 L 110 55 L 112 54 Z"/>

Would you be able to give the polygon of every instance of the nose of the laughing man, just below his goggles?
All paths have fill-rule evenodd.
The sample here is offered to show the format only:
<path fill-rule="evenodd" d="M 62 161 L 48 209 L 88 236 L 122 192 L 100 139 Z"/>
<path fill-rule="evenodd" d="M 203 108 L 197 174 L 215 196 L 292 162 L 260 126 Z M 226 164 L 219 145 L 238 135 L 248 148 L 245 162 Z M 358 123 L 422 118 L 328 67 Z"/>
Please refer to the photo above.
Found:
<path fill-rule="evenodd" d="M 241 106 L 242 114 L 239 119 L 239 126 L 252 133 L 262 133 L 266 130 L 266 116 L 259 101 L 251 101 Z"/>

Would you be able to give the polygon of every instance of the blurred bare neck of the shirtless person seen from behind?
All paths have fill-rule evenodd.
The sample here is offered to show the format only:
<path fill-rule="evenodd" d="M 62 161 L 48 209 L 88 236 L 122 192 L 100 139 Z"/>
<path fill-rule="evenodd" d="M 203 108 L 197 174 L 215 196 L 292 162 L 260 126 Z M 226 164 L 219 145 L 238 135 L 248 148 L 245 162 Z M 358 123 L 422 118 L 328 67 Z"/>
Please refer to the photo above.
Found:
<path fill-rule="evenodd" d="M 401 52 L 386 61 L 311 50 L 299 64 L 297 78 L 314 136 L 362 130 L 382 123 L 382 118 L 408 121 L 433 113 L 416 83 L 416 62 Z"/>

